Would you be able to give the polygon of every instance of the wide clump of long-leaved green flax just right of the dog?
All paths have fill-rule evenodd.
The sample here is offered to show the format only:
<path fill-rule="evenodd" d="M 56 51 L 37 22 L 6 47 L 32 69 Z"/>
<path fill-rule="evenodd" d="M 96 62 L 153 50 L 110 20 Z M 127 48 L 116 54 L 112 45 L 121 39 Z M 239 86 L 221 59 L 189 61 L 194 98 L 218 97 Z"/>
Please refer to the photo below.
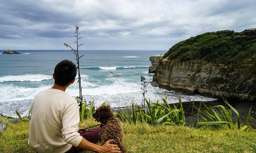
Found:
<path fill-rule="evenodd" d="M 162 98 L 161 103 L 159 100 L 157 100 L 156 103 L 153 103 L 150 102 L 150 99 L 145 99 L 147 104 L 145 108 L 135 105 L 133 102 L 130 109 L 126 106 L 126 112 L 117 110 L 115 112 L 116 118 L 130 124 L 146 123 L 150 125 L 186 125 L 187 123 L 185 123 L 181 99 L 179 98 L 179 109 L 177 109 L 175 105 L 174 108 L 171 108 L 166 99 L 167 95 L 165 98 Z"/>

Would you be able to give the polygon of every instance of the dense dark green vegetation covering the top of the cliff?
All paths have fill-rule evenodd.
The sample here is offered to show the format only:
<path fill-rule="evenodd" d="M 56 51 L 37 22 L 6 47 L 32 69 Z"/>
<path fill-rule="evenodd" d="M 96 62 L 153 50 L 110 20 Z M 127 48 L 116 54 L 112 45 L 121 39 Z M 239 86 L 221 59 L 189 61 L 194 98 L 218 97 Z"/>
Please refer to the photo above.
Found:
<path fill-rule="evenodd" d="M 235 65 L 256 57 L 256 28 L 200 34 L 172 46 L 163 58 L 166 57 L 170 60 L 206 60 Z"/>

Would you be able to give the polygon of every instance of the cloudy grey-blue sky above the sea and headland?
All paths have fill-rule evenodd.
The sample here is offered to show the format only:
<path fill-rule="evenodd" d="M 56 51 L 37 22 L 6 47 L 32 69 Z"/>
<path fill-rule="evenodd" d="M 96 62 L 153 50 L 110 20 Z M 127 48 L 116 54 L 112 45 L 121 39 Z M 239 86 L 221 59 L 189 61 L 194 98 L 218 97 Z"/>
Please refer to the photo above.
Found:
<path fill-rule="evenodd" d="M 0 50 L 169 50 L 256 28 L 255 0 L 0 0 Z"/>

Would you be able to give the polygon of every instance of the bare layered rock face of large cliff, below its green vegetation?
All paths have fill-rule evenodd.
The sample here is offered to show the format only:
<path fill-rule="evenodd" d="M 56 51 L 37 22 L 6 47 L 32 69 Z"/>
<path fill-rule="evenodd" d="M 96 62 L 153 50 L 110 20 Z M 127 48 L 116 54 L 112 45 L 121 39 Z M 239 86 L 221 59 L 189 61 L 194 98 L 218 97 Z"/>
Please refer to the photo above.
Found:
<path fill-rule="evenodd" d="M 198 60 L 161 59 L 152 83 L 177 92 L 256 101 L 255 78 L 255 58 L 236 68 Z"/>

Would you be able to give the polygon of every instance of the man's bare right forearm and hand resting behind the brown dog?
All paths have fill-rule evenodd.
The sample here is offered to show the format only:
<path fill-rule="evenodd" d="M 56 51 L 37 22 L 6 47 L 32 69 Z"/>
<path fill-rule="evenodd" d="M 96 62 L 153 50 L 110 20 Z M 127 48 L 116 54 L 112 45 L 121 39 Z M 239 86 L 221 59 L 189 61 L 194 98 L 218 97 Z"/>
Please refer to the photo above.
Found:
<path fill-rule="evenodd" d="M 103 146 L 100 146 L 82 138 L 81 142 L 77 147 L 97 153 L 121 153 L 120 148 L 118 148 L 118 145 L 109 144 L 109 142 L 111 141 L 113 140 L 108 140 Z"/>

